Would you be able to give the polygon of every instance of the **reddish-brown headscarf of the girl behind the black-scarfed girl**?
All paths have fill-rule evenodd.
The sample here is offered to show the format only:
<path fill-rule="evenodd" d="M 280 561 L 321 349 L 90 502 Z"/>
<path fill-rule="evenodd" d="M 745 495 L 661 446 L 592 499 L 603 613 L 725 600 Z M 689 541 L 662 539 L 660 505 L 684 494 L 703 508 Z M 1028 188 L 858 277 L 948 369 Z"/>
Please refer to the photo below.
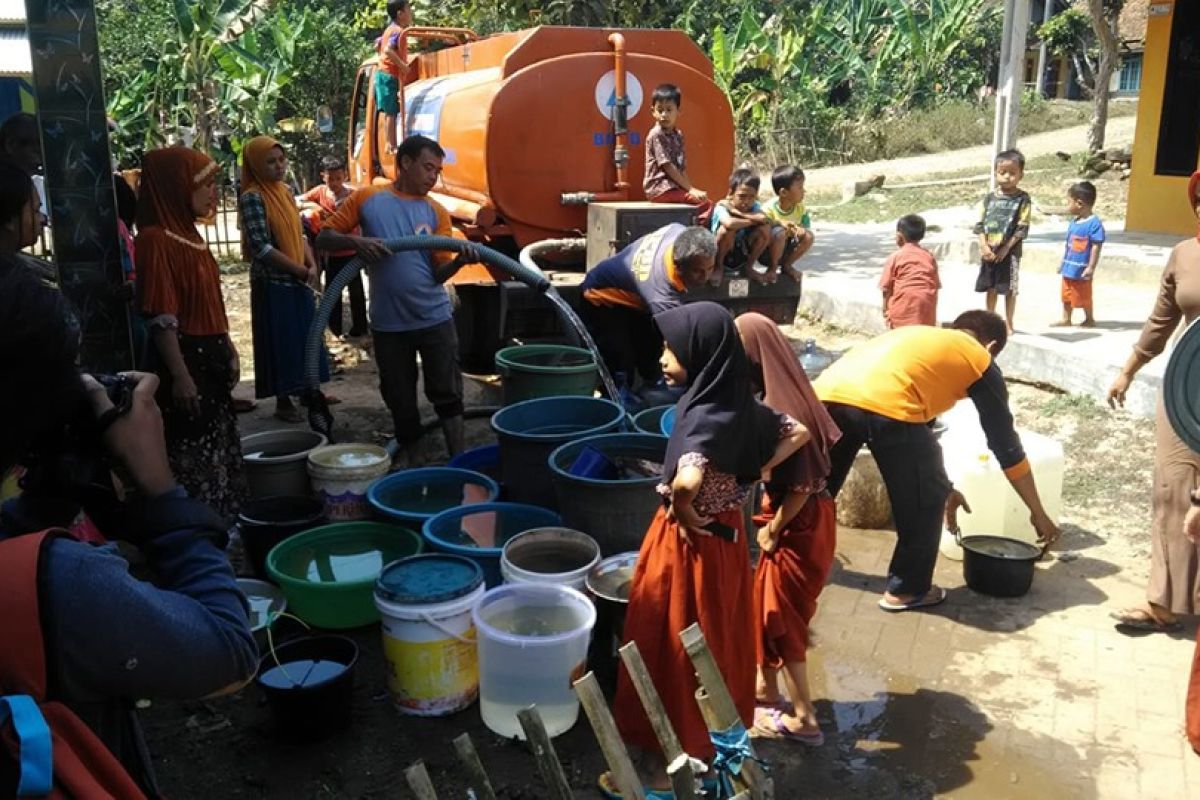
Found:
<path fill-rule="evenodd" d="M 763 390 L 763 402 L 809 429 L 812 439 L 772 473 L 772 485 L 779 487 L 816 486 L 829 476 L 829 449 L 841 439 L 841 431 L 817 399 L 809 377 L 804 374 L 792 347 L 775 323 L 762 314 L 742 314 L 737 319 L 742 344 L 750 360 L 751 374 Z"/>

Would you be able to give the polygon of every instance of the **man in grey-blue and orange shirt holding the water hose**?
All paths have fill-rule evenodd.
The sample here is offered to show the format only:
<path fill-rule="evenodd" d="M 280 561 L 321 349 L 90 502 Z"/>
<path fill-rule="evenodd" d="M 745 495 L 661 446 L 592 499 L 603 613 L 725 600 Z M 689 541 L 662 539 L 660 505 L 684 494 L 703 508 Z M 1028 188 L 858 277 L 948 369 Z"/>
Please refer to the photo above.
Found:
<path fill-rule="evenodd" d="M 442 175 L 445 151 L 437 142 L 410 136 L 396 150 L 396 180 L 358 190 L 325 221 L 317 236 L 323 251 L 353 249 L 370 265 L 371 335 L 379 365 L 379 392 L 391 411 L 400 452 L 394 467 L 406 467 L 421 438 L 416 404 L 416 356 L 421 356 L 425 397 L 442 421 L 446 450 L 463 450 L 462 372 L 458 335 L 450 296 L 443 285 L 466 264 L 479 260 L 468 246 L 449 251 L 392 253 L 384 242 L 404 236 L 450 236 L 450 213 L 430 199 Z M 362 235 L 352 234 L 355 228 Z"/>

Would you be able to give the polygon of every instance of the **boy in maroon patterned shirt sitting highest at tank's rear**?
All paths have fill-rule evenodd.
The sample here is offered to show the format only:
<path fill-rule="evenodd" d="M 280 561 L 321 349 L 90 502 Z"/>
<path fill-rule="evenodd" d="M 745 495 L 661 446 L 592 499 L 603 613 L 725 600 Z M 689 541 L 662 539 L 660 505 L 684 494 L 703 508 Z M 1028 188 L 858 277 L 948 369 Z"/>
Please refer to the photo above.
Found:
<path fill-rule="evenodd" d="M 696 188 L 688 178 L 684 158 L 683 132 L 678 128 L 683 94 L 674 84 L 665 83 L 650 95 L 654 127 L 646 136 L 646 179 L 642 188 L 650 203 L 685 203 L 696 206 L 696 221 L 708 224 L 713 203 L 704 190 Z"/>

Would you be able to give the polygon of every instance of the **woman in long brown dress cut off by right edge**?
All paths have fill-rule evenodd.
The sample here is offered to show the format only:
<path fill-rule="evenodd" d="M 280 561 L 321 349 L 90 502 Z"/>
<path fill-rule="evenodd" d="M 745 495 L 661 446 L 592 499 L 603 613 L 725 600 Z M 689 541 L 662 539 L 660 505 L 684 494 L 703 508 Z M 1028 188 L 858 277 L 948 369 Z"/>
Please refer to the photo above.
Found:
<path fill-rule="evenodd" d="M 1188 205 L 1200 205 L 1200 172 L 1188 182 Z M 1200 215 L 1200 211 L 1198 211 Z M 1166 349 L 1180 323 L 1188 325 L 1200 315 L 1200 236 L 1171 249 L 1159 283 L 1154 309 L 1141 329 L 1138 343 L 1117 379 L 1109 389 L 1109 404 L 1124 404 L 1133 377 L 1151 359 Z M 1115 612 L 1117 630 L 1127 633 L 1178 631 L 1181 615 L 1200 613 L 1200 558 L 1196 547 L 1183 535 L 1183 516 L 1192 493 L 1200 485 L 1200 455 L 1192 452 L 1175 435 L 1162 395 L 1154 419 L 1154 492 L 1151 497 L 1150 583 L 1146 602 Z M 1198 723 L 1200 724 L 1200 723 Z M 1200 727 L 1198 727 L 1200 734 Z"/>

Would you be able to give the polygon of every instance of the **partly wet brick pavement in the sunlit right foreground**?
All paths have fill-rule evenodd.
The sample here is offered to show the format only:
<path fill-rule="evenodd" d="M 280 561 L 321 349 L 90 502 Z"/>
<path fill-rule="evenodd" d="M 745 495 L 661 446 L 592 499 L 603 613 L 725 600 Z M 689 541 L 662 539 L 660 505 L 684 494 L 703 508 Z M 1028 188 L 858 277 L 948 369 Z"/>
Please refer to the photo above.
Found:
<path fill-rule="evenodd" d="M 1130 639 L 1106 615 L 1139 577 L 1073 553 L 1000 600 L 943 557 L 946 603 L 887 614 L 895 534 L 839 536 L 809 656 L 827 740 L 760 744 L 780 798 L 1200 798 L 1182 734 L 1190 637 Z"/>

